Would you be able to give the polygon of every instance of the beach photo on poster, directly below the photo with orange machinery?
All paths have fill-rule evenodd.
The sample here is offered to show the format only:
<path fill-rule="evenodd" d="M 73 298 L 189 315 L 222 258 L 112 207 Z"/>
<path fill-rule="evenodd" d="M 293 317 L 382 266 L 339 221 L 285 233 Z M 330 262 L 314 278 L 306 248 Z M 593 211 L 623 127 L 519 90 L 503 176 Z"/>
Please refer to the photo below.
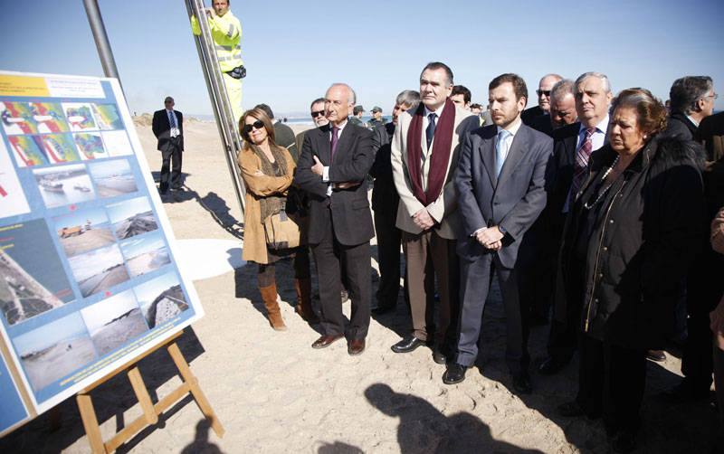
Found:
<path fill-rule="evenodd" d="M 83 297 L 130 279 L 118 244 L 76 255 L 68 259 L 68 262 Z"/>

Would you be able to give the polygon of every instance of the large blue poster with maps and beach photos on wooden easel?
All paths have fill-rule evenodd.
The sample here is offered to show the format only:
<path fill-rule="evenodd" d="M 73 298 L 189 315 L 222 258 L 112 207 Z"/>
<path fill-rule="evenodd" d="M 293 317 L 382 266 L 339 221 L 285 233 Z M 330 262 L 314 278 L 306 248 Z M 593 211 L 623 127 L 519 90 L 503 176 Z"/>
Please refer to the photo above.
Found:
<path fill-rule="evenodd" d="M 203 309 L 117 80 L 0 71 L 0 122 L 2 432 Z"/>

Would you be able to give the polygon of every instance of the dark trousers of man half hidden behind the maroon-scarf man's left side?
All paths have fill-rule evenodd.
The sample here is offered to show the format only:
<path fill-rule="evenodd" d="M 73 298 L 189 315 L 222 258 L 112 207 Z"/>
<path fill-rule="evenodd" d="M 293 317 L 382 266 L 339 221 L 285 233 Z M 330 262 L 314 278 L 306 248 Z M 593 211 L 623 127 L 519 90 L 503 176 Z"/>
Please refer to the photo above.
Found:
<path fill-rule="evenodd" d="M 379 264 L 379 287 L 377 305 L 395 307 L 400 294 L 400 242 L 402 232 L 395 226 L 395 210 L 375 210 L 375 231 L 377 234 L 377 263 Z"/>

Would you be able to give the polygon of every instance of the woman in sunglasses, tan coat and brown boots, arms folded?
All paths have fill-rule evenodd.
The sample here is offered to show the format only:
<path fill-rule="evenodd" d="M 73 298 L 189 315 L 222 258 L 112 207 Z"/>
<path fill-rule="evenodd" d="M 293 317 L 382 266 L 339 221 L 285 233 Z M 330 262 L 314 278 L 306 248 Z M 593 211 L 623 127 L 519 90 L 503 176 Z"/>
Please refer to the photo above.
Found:
<path fill-rule="evenodd" d="M 271 327 L 286 331 L 277 304 L 275 263 L 285 257 L 294 257 L 294 278 L 297 285 L 301 317 L 310 323 L 319 321 L 311 308 L 310 260 L 300 246 L 292 249 L 271 249 L 267 245 L 263 222 L 280 213 L 287 203 L 287 194 L 294 176 L 294 160 L 289 151 L 274 142 L 274 128 L 262 109 L 247 110 L 239 121 L 244 139 L 237 162 L 242 169 L 246 185 L 244 212 L 243 260 L 259 264 L 259 291 L 269 314 Z M 300 228 L 304 229 L 303 225 Z M 302 238 L 306 235 L 302 234 Z"/>

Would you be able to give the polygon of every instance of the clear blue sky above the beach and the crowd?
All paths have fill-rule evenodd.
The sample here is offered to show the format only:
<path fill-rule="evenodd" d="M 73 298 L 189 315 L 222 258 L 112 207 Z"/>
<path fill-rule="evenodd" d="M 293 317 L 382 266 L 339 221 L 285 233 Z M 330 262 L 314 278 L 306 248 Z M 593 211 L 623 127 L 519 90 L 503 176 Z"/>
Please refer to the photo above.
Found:
<path fill-rule="evenodd" d="M 102 76 L 80 0 L 4 2 L 0 69 Z M 206 0 L 211 5 L 210 0 Z M 182 0 L 99 0 L 131 113 L 163 108 L 210 114 Z M 600 71 L 614 92 L 641 86 L 662 99 L 682 75 L 707 74 L 724 92 L 724 3 L 610 0 L 519 2 L 242 2 L 244 108 L 277 117 L 307 113 L 329 84 L 348 82 L 358 103 L 389 114 L 396 94 L 417 89 L 428 61 L 485 102 L 488 82 L 516 72 L 529 85 L 558 72 Z M 535 99 L 529 106 L 535 105 Z M 724 109 L 724 97 L 715 109 Z"/>

